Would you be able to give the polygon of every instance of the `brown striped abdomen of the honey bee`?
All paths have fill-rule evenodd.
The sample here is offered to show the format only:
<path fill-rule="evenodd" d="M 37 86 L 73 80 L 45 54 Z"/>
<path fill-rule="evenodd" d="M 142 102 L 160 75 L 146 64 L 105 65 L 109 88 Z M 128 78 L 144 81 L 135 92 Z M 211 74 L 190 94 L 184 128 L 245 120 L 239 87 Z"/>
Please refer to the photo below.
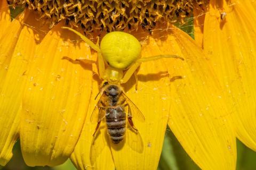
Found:
<path fill-rule="evenodd" d="M 126 118 L 123 108 L 117 106 L 108 108 L 106 112 L 108 134 L 113 143 L 119 143 L 124 139 Z"/>

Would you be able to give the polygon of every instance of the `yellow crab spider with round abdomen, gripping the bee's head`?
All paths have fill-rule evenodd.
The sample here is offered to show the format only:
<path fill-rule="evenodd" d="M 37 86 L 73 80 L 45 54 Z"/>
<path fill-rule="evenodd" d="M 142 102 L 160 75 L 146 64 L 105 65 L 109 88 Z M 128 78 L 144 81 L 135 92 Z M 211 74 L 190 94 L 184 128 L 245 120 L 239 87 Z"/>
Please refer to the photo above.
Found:
<path fill-rule="evenodd" d="M 140 58 L 141 45 L 137 38 L 126 32 L 114 31 L 107 33 L 101 40 L 100 46 L 94 44 L 90 39 L 81 33 L 68 27 L 62 27 L 73 31 L 80 36 L 85 43 L 98 52 L 98 69 L 101 79 L 112 83 L 126 83 L 132 76 L 137 78 L 137 69 L 143 62 L 154 61 L 161 58 L 179 58 L 177 55 L 157 55 L 146 58 Z M 76 60 L 78 62 L 93 63 L 90 60 Z M 107 68 L 105 69 L 105 64 Z M 124 71 L 125 74 L 124 74 Z"/>

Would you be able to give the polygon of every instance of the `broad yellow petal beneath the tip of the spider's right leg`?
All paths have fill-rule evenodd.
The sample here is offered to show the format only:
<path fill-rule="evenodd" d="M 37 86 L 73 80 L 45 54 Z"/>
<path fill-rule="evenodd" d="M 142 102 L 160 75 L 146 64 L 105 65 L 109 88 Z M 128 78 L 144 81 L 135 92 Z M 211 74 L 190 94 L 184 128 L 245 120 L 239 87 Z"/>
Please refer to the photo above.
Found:
<path fill-rule="evenodd" d="M 235 169 L 235 133 L 217 77 L 192 38 L 178 29 L 162 34 L 167 33 L 161 50 L 173 49 L 186 58 L 186 62 L 166 63 L 170 75 L 182 76 L 171 83 L 168 125 L 202 169 Z"/>

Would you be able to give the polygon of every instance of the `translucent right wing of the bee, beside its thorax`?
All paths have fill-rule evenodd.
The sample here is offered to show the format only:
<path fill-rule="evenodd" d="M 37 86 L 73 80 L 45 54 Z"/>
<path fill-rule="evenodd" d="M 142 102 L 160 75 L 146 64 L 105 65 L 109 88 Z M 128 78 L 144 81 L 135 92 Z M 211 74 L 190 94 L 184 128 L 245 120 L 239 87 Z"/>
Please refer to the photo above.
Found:
<path fill-rule="evenodd" d="M 145 122 L 145 117 L 141 113 L 140 109 L 132 102 L 129 97 L 127 97 L 123 92 L 123 97 L 125 98 L 126 103 L 128 104 L 128 107 L 131 108 L 131 111 L 128 112 L 132 117 L 138 119 L 141 122 Z"/>

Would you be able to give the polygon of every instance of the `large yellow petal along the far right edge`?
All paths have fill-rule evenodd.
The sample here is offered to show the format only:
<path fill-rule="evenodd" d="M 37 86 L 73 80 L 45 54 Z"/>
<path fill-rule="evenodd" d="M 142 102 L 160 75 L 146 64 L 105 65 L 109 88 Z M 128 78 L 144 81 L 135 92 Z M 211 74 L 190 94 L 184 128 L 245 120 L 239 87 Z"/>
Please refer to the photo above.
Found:
<path fill-rule="evenodd" d="M 254 5 L 254 6 L 253 6 Z M 220 20 L 218 8 L 226 12 Z M 255 2 L 211 1 L 204 25 L 204 49 L 230 99 L 237 137 L 256 150 Z"/>

